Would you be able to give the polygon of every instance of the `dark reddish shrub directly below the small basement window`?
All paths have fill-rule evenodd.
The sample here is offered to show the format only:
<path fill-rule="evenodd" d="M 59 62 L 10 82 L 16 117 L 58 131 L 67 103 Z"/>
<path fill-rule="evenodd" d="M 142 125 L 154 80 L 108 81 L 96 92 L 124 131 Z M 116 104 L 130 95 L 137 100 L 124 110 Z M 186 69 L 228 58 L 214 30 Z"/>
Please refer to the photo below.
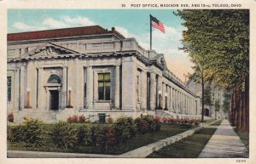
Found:
<path fill-rule="evenodd" d="M 96 128 L 96 146 L 100 149 L 108 151 L 108 148 L 116 144 L 115 131 L 113 126 L 98 126 Z"/>

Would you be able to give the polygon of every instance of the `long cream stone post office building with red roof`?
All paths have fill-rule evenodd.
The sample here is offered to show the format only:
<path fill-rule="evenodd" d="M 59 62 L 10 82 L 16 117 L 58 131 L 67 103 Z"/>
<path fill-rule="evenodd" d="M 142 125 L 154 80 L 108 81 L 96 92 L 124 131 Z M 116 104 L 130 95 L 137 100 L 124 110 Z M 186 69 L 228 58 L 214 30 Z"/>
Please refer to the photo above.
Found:
<path fill-rule="evenodd" d="M 166 109 L 199 116 L 199 99 L 163 54 L 101 26 L 8 34 L 7 108 L 15 121 L 98 114 L 140 116 Z"/>

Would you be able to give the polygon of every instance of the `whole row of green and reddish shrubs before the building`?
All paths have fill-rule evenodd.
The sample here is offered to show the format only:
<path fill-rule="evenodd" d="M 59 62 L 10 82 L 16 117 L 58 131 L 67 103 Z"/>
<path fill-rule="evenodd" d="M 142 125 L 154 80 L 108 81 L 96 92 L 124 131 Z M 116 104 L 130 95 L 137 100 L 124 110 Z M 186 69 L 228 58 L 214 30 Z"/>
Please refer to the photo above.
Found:
<path fill-rule="evenodd" d="M 139 118 L 137 121 L 139 122 L 135 122 L 132 117 L 121 116 L 108 124 L 77 123 L 79 116 L 70 116 L 67 122 L 58 122 L 49 128 L 48 137 L 45 137 L 43 123 L 38 119 L 26 118 L 24 123 L 8 127 L 8 140 L 26 143 L 32 147 L 40 147 L 50 141 L 62 150 L 95 146 L 96 149 L 106 152 L 110 146 L 125 144 L 137 134 L 160 130 L 159 120 L 153 117 Z M 47 141 L 45 138 L 48 138 Z"/>

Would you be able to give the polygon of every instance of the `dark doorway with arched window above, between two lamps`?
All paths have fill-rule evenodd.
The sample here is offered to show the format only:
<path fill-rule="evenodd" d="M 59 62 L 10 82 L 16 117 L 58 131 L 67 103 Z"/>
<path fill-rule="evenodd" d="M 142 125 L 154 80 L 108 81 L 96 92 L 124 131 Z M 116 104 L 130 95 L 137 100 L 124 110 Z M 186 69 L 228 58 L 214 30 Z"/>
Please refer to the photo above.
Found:
<path fill-rule="evenodd" d="M 59 110 L 61 78 L 55 74 L 50 75 L 47 83 L 49 88 L 49 110 Z"/>

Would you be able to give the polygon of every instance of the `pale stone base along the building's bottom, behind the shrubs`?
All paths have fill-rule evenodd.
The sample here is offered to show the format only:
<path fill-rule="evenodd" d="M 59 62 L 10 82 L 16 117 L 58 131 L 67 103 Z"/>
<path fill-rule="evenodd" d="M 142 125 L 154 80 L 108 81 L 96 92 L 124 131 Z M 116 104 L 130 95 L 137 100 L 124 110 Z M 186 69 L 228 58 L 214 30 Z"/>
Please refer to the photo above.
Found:
<path fill-rule="evenodd" d="M 67 121 L 69 116 L 85 116 L 86 122 L 100 122 L 102 119 L 107 121 L 108 117 L 112 117 L 116 120 L 119 116 L 131 116 L 137 118 L 139 116 L 160 116 L 166 118 L 176 119 L 201 119 L 201 115 L 188 115 L 188 114 L 177 114 L 169 110 L 76 110 L 74 108 L 65 108 L 64 110 L 38 110 L 38 109 L 23 109 L 14 112 L 14 122 L 24 122 L 25 117 L 38 118 L 43 122 L 59 122 Z M 212 119 L 211 117 L 205 116 L 205 120 Z"/>

